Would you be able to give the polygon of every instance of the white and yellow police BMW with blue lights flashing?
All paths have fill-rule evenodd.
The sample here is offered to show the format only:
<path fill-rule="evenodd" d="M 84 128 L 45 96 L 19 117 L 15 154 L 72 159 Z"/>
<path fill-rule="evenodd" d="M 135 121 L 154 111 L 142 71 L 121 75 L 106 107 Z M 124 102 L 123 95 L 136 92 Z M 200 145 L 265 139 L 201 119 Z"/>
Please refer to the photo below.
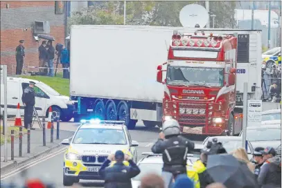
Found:
<path fill-rule="evenodd" d="M 74 133 L 64 153 L 64 186 L 83 180 L 101 180 L 98 171 L 111 153 L 117 150 L 130 152 L 134 162 L 137 160 L 138 142 L 131 140 L 123 121 L 81 120 L 82 124 Z"/>

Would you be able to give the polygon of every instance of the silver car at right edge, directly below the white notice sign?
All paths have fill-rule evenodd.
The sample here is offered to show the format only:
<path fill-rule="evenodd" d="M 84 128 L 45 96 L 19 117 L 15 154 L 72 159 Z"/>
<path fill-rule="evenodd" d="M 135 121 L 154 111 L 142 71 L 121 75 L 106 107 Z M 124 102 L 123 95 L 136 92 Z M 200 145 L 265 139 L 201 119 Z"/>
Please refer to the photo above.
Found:
<path fill-rule="evenodd" d="M 242 132 L 239 135 L 242 137 Z M 252 147 L 273 147 L 281 145 L 281 124 L 263 124 L 261 126 L 247 126 L 247 140 Z"/>

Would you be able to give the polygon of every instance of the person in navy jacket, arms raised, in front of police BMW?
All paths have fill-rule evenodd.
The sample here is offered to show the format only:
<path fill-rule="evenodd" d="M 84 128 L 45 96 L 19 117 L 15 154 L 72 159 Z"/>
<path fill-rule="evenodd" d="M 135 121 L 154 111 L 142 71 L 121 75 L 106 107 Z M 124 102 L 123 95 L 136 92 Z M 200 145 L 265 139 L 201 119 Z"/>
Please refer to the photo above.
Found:
<path fill-rule="evenodd" d="M 124 160 L 127 160 L 130 166 L 125 166 L 123 164 Z M 108 167 L 111 161 L 116 161 L 116 163 Z M 100 176 L 105 180 L 105 188 L 132 188 L 131 178 L 134 178 L 139 173 L 140 169 L 135 162 L 120 150 L 109 155 L 99 170 Z"/>

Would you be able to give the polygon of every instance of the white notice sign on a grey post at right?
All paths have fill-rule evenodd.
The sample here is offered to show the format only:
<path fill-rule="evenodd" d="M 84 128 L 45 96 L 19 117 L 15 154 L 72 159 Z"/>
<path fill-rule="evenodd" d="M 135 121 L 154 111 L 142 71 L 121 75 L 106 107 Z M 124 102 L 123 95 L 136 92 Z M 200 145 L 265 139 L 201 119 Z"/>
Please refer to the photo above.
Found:
<path fill-rule="evenodd" d="M 261 124 L 263 102 L 261 100 L 248 100 L 247 105 L 247 126 L 249 124 Z"/>

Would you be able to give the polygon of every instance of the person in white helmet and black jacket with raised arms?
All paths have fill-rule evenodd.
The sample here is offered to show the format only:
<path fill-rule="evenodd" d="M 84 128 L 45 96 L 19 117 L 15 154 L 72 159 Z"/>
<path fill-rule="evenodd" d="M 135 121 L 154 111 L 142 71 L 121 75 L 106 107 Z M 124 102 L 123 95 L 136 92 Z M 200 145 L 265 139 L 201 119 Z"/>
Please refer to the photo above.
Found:
<path fill-rule="evenodd" d="M 188 151 L 193 150 L 194 142 L 180 135 L 180 126 L 177 120 L 166 120 L 159 133 L 159 140 L 152 146 L 153 153 L 162 153 L 163 171 L 173 173 L 173 177 L 181 173 L 186 174 Z"/>

